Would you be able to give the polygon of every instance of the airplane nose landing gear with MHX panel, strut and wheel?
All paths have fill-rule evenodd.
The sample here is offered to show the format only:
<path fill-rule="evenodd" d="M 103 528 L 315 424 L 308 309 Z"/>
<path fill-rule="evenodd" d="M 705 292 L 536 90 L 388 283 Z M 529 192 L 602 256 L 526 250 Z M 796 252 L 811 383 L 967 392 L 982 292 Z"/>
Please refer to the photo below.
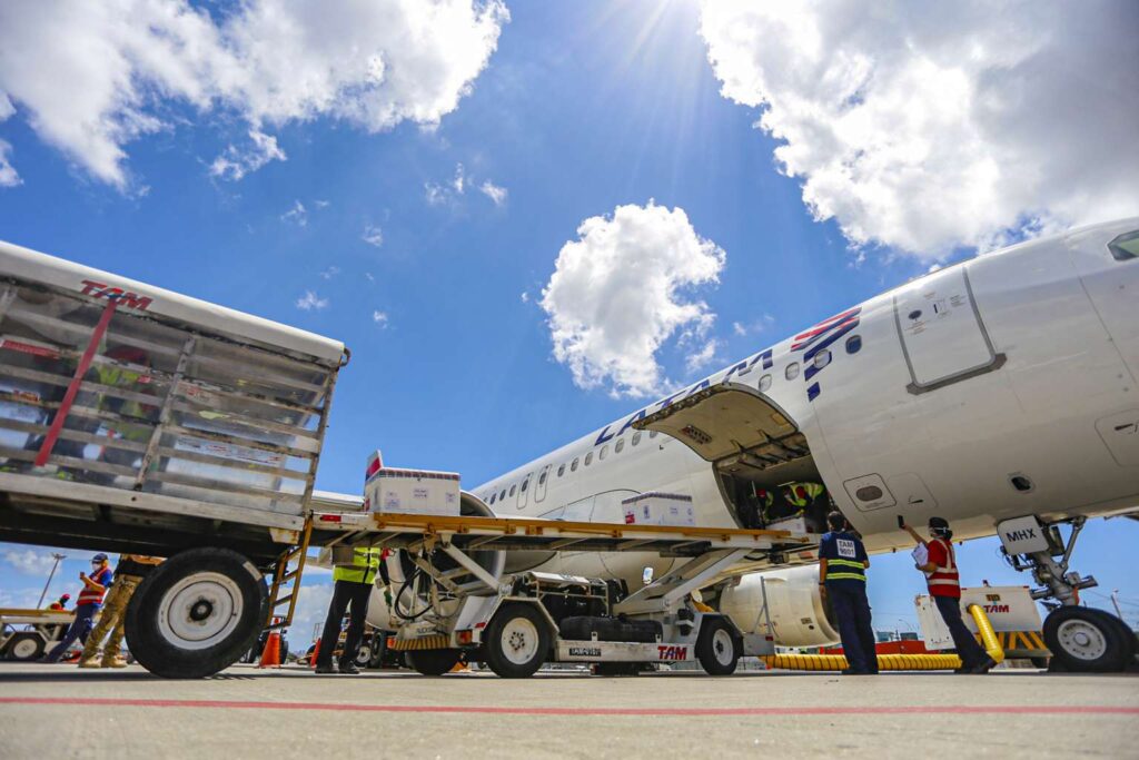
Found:
<path fill-rule="evenodd" d="M 1092 577 L 1068 572 L 1068 561 L 1084 517 L 1068 522 L 1067 541 L 1062 523 L 1042 523 L 1035 516 L 1007 520 L 997 526 L 1005 556 L 1019 571 L 1030 571 L 1040 588 L 1032 591 L 1051 612 L 1044 619 L 1044 644 L 1058 669 L 1084 672 L 1124 670 L 1134 661 L 1136 635 L 1122 620 L 1103 610 L 1081 607 L 1080 589 L 1097 586 Z"/>

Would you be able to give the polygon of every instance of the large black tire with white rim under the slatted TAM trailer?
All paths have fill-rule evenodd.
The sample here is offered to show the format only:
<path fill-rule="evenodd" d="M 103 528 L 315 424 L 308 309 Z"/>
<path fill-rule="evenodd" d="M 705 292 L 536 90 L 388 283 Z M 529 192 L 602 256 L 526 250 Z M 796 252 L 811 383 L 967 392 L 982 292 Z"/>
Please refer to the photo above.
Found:
<path fill-rule="evenodd" d="M 139 664 L 164 678 L 204 678 L 257 640 L 269 615 L 265 579 L 229 549 L 189 549 L 155 567 L 126 607 Z"/>

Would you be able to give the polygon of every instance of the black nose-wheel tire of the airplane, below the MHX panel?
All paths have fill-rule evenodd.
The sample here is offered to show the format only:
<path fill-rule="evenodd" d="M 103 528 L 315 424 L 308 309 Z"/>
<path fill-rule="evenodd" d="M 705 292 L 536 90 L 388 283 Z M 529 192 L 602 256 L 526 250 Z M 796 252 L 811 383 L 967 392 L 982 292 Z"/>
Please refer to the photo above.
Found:
<path fill-rule="evenodd" d="M 1058 607 L 1044 620 L 1044 645 L 1064 670 L 1116 672 L 1134 656 L 1134 636 L 1125 636 L 1124 629 L 1103 610 Z"/>

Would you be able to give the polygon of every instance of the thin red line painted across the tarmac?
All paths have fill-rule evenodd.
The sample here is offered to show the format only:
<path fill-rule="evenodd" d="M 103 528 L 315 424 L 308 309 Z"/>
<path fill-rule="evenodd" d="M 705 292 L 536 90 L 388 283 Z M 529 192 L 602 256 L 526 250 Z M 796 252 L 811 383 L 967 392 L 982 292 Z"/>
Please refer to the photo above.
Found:
<path fill-rule="evenodd" d="M 252 702 L 239 700 L 130 700 L 117 697 L 0 696 L 0 704 L 106 708 L 199 708 L 237 710 L 326 710 L 335 712 L 435 712 L 495 716 L 1139 716 L 1139 708 L 1113 705 L 929 705 L 884 708 L 494 708 L 444 704 L 337 704 L 335 702 Z"/>

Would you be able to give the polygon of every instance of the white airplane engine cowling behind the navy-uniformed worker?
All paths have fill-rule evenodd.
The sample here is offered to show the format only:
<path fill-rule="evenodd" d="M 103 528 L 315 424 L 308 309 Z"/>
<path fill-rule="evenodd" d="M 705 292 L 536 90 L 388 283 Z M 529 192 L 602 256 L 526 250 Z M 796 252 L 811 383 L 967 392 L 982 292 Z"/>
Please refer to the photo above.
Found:
<path fill-rule="evenodd" d="M 823 646 L 838 641 L 838 630 L 828 619 L 819 593 L 818 565 L 743 575 L 720 595 L 720 612 L 730 615 L 745 634 L 765 632 L 764 587 L 776 644 Z"/>

